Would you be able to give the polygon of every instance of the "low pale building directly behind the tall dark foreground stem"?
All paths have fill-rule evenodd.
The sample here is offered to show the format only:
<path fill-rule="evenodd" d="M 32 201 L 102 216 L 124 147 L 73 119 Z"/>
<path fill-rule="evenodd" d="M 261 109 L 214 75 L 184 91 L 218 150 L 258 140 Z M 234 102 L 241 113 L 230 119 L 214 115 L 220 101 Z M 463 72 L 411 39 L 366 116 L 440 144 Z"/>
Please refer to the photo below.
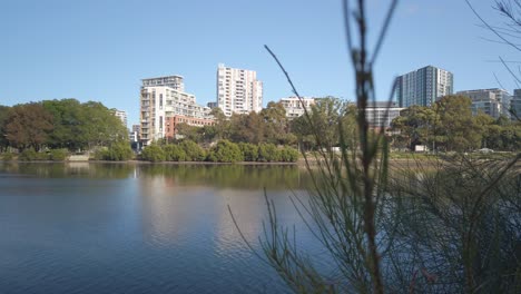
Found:
<path fill-rule="evenodd" d="M 390 128 L 391 121 L 400 116 L 403 107 L 397 107 L 395 102 L 375 101 L 370 102 L 365 109 L 365 118 L 371 128 Z"/>

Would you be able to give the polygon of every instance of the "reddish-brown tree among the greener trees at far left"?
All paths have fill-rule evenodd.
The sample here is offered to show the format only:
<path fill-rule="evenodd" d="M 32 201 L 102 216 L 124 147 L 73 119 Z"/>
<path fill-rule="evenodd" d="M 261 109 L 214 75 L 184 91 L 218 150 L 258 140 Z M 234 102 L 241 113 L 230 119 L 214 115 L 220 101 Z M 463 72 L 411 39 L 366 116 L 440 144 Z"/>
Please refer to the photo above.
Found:
<path fill-rule="evenodd" d="M 6 120 L 6 138 L 20 150 L 35 148 L 38 151 L 52 129 L 52 116 L 36 102 L 12 107 Z"/>

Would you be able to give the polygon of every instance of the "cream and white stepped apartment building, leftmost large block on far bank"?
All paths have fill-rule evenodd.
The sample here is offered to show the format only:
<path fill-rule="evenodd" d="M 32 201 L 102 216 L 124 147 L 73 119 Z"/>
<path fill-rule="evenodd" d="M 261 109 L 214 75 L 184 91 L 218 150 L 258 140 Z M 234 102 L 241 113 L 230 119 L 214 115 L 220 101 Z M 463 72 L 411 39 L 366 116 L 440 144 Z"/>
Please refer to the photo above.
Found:
<path fill-rule="evenodd" d="M 184 89 L 180 76 L 142 80 L 139 116 L 144 146 L 153 140 L 174 137 L 177 121 L 194 126 L 214 124 L 210 108 L 198 105 L 196 97 Z"/>

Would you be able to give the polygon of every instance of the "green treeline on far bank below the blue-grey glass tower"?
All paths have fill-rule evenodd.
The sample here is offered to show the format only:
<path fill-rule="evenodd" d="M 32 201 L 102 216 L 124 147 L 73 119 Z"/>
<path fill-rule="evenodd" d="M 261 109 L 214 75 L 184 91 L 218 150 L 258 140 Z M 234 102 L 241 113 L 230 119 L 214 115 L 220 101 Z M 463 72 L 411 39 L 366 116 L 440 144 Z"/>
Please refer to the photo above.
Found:
<path fill-rule="evenodd" d="M 468 151 L 479 148 L 521 149 L 521 122 L 501 116 L 498 119 L 471 110 L 464 96 L 446 96 L 431 107 L 411 106 L 392 121 L 395 148 L 414 149 L 426 145 L 432 150 Z"/>

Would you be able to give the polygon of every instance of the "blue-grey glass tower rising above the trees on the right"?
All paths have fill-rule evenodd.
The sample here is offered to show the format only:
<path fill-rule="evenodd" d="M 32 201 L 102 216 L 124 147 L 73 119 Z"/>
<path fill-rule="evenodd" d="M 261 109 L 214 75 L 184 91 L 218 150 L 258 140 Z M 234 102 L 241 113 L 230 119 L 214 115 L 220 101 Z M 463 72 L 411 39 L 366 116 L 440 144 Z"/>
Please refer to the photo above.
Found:
<path fill-rule="evenodd" d="M 450 71 L 427 66 L 397 77 L 395 98 L 400 107 L 431 106 L 439 98 L 452 95 L 453 89 Z"/>

